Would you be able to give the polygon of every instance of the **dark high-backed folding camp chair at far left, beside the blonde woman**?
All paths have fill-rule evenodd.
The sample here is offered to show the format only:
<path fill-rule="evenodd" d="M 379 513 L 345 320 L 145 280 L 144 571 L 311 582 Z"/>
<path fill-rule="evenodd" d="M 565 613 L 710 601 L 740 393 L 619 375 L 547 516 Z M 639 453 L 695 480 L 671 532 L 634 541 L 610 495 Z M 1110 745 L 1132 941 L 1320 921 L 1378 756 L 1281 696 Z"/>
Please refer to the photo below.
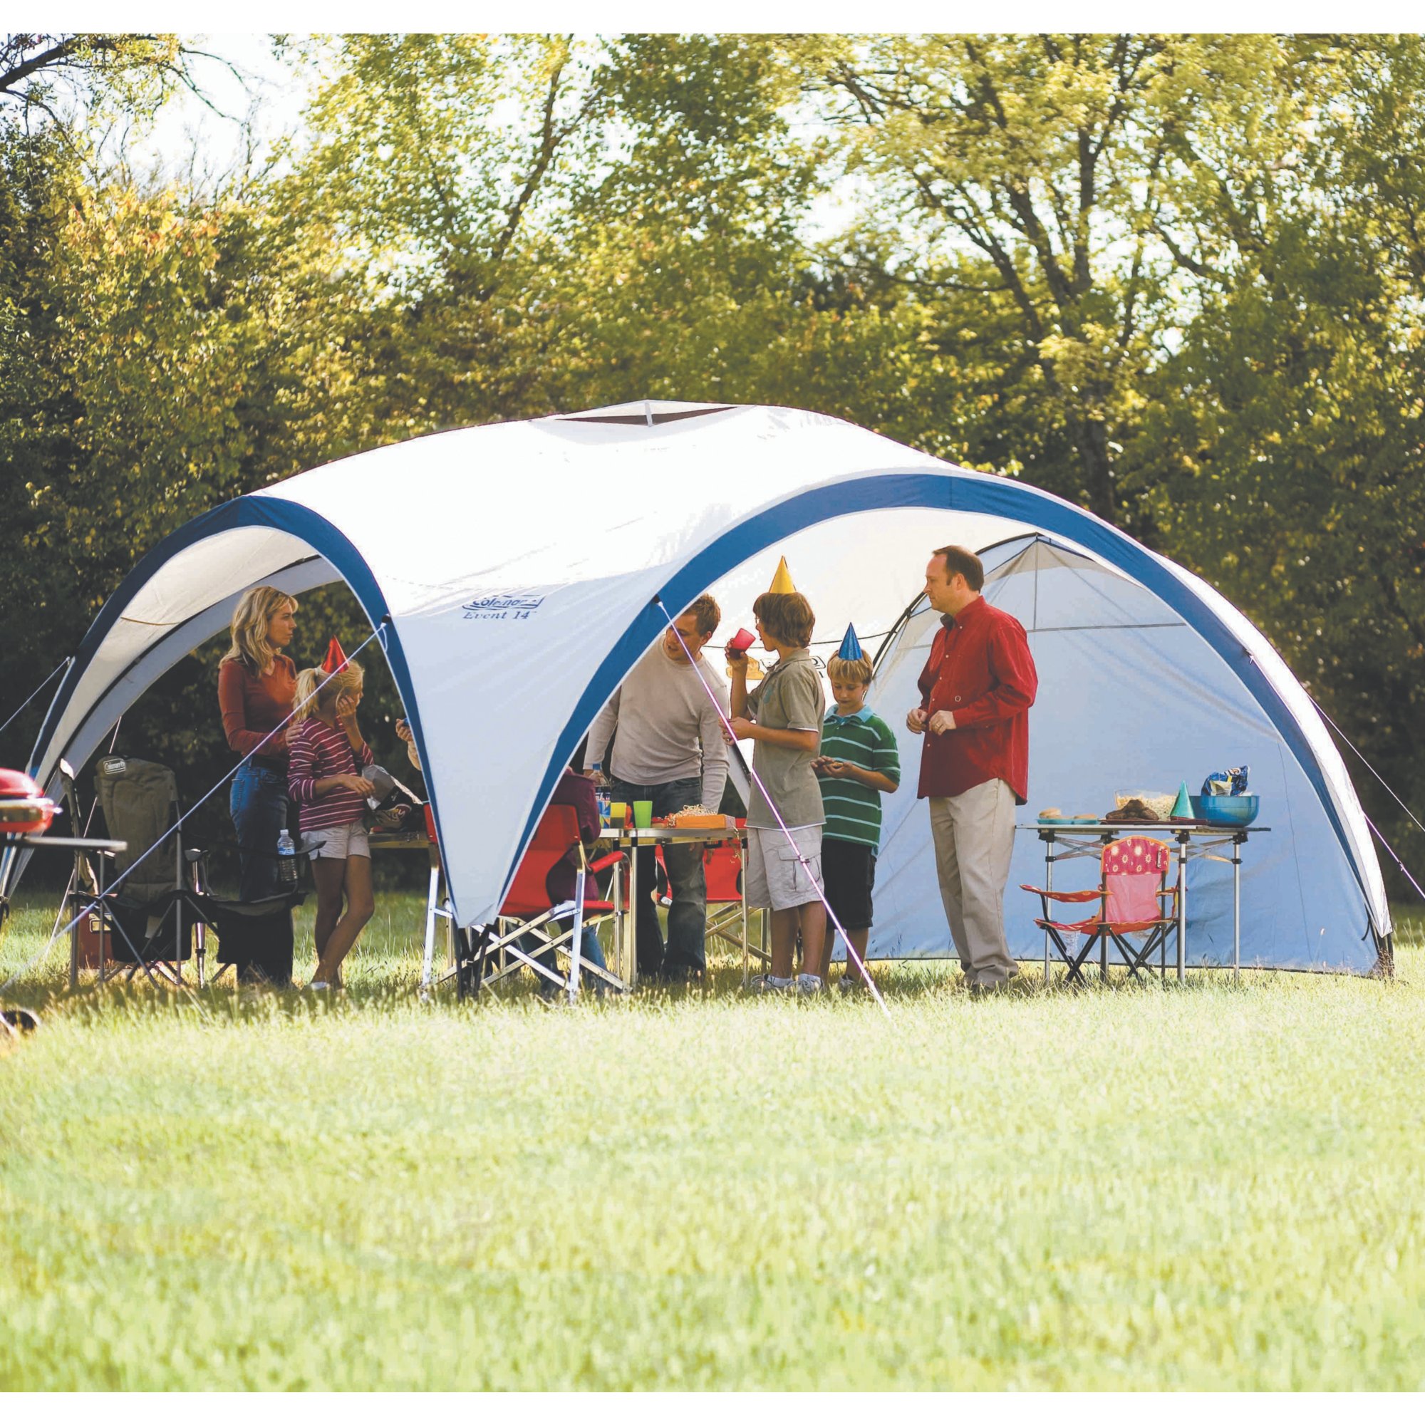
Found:
<path fill-rule="evenodd" d="M 118 881 L 114 889 L 86 892 L 76 882 L 80 903 L 93 902 L 101 983 L 125 972 L 133 979 L 140 970 L 181 983 L 182 962 L 194 956 L 197 942 L 202 986 L 208 926 L 218 933 L 219 975 L 222 965 L 235 965 L 254 966 L 268 979 L 291 979 L 292 906 L 305 899 L 299 891 L 251 903 L 212 896 L 204 884 L 204 852 L 182 842 L 177 778 L 158 762 L 103 757 L 94 789 L 108 834 L 128 842 L 124 852 L 101 854 L 113 856 L 104 882 Z"/>

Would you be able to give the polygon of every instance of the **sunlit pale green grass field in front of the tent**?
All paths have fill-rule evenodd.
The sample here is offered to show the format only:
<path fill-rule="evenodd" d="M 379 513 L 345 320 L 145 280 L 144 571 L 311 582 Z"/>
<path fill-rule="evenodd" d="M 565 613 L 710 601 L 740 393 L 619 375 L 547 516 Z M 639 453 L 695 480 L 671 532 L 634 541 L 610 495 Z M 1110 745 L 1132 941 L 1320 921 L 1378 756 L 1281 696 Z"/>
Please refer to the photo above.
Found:
<path fill-rule="evenodd" d="M 1419 919 L 1389 983 L 902 968 L 889 1025 L 420 1005 L 418 921 L 333 1002 L 9 995 L 0 1387 L 1425 1387 Z"/>

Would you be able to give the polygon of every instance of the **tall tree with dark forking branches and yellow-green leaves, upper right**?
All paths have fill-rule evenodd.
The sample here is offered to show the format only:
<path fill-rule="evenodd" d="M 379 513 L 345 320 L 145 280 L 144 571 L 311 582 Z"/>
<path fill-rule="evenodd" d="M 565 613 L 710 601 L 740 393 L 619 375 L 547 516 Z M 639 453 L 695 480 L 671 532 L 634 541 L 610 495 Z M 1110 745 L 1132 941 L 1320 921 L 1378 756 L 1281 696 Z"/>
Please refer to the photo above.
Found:
<path fill-rule="evenodd" d="M 1260 107 L 1274 46 L 1040 34 L 788 47 L 848 170 L 876 185 L 881 228 L 902 229 L 893 274 L 945 309 L 942 348 L 959 333 L 995 369 L 993 405 L 1037 428 L 1027 445 L 1045 459 L 1029 473 L 1104 519 L 1131 522 L 1119 455 L 1180 319 L 1160 218 L 1191 168 L 1181 135 Z"/>

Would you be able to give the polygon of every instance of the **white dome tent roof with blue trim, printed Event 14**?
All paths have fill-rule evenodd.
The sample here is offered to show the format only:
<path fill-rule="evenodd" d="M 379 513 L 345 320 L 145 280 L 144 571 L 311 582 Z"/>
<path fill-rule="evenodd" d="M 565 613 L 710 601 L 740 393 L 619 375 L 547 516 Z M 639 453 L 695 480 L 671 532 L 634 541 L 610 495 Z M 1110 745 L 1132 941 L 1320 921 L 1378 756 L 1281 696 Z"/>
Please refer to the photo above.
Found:
<path fill-rule="evenodd" d="M 232 500 L 170 536 L 104 607 L 33 770 L 51 781 L 61 757 L 83 762 L 145 687 L 225 626 L 244 589 L 341 577 L 380 627 L 457 916 L 484 923 L 561 767 L 668 614 L 711 589 L 725 637 L 750 623 L 785 554 L 817 610 L 819 651 L 848 621 L 874 650 L 915 600 L 931 549 L 1040 530 L 1141 583 L 1245 688 L 1301 767 L 1357 903 L 1387 933 L 1345 768 L 1305 693 L 1226 600 L 1054 496 L 782 408 L 637 402 L 452 430 Z"/>

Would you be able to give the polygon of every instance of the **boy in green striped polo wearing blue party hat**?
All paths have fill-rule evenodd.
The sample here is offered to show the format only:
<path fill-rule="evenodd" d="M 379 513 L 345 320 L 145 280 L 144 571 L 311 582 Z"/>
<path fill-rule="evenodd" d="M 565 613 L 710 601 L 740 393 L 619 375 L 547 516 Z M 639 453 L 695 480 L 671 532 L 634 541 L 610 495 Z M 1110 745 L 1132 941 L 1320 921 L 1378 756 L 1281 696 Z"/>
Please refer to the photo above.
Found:
<path fill-rule="evenodd" d="M 812 762 L 826 811 L 821 869 L 826 901 L 865 965 L 881 846 L 881 794 L 901 785 L 901 752 L 895 732 L 866 707 L 871 660 L 861 651 L 855 628 L 846 628 L 836 657 L 826 660 L 826 678 L 836 705 L 826 712 L 821 755 Z M 829 963 L 835 938 L 835 928 L 828 925 L 822 965 Z M 866 983 L 862 976 L 848 955 L 842 990 L 861 989 Z"/>

